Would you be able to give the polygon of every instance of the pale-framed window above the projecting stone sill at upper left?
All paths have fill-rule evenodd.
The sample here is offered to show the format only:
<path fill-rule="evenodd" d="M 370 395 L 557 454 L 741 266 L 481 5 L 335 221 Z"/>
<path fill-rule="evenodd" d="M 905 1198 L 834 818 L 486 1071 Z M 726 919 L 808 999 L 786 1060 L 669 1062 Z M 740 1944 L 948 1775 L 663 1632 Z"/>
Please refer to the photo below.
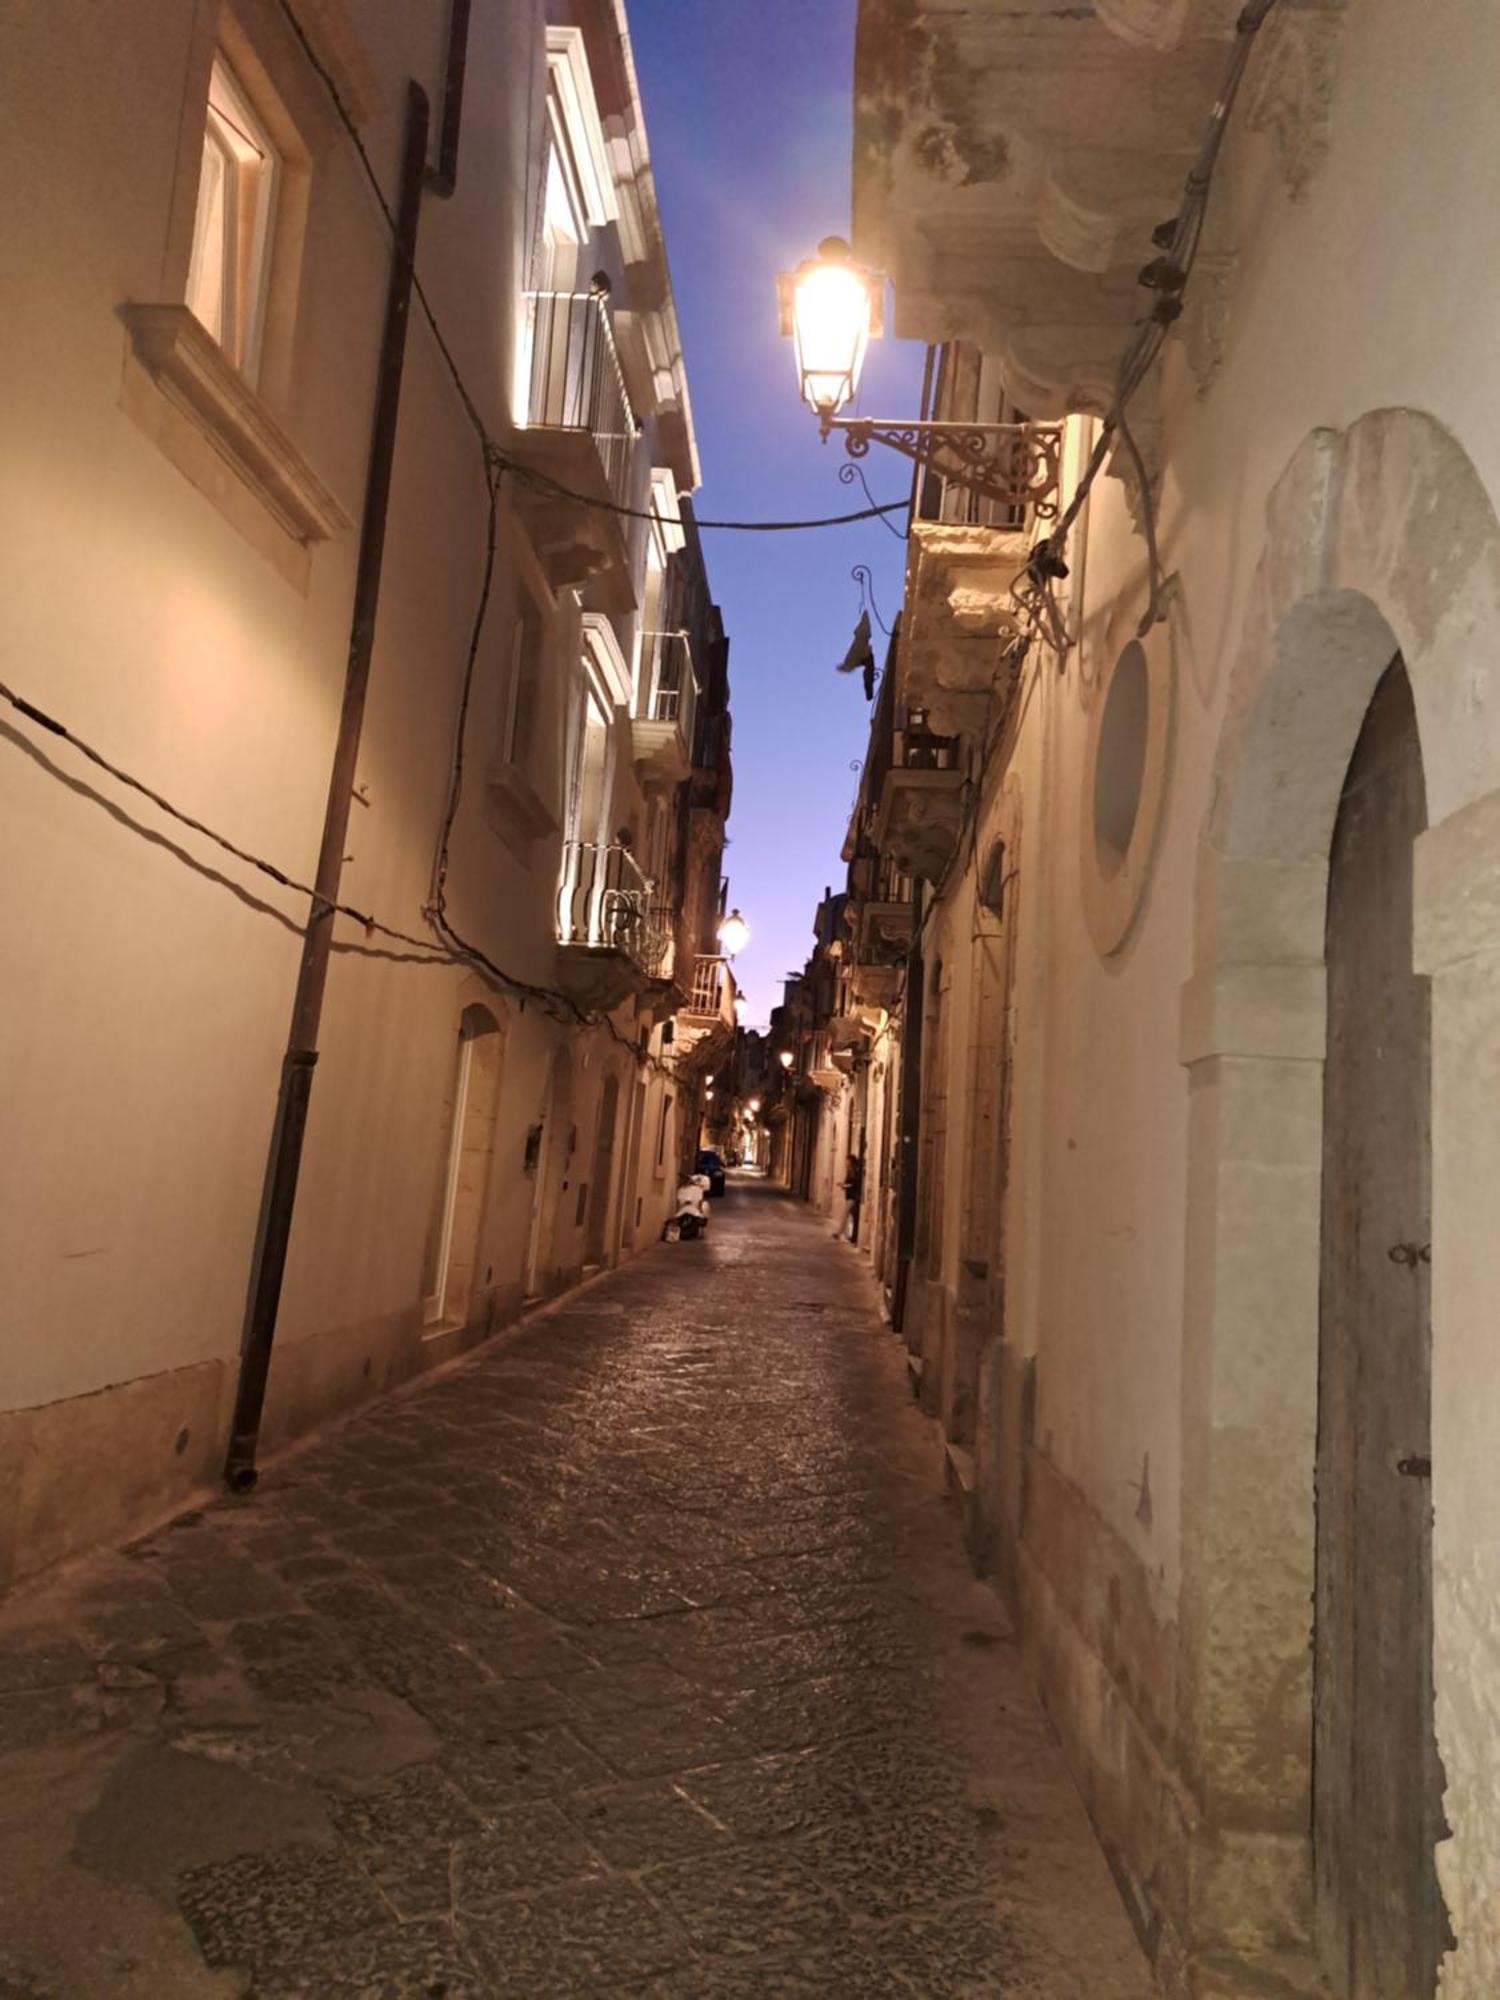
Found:
<path fill-rule="evenodd" d="M 250 100 L 214 58 L 204 164 L 188 264 L 188 308 L 234 366 L 254 380 L 266 316 L 280 162 Z"/>

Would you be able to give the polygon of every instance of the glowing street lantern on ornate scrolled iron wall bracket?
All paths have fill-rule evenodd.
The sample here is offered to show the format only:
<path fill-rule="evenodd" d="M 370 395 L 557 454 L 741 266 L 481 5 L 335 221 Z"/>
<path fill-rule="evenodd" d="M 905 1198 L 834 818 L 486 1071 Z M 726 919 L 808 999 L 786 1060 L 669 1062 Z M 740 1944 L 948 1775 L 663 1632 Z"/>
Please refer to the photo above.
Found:
<path fill-rule="evenodd" d="M 854 262 L 842 236 L 776 278 L 782 334 L 792 340 L 796 380 L 816 412 L 824 444 L 838 430 L 850 458 L 872 444 L 912 458 L 940 478 L 1050 520 L 1058 512 L 1060 424 L 904 424 L 840 416 L 860 388 L 864 356 L 884 330 L 886 280 Z"/>

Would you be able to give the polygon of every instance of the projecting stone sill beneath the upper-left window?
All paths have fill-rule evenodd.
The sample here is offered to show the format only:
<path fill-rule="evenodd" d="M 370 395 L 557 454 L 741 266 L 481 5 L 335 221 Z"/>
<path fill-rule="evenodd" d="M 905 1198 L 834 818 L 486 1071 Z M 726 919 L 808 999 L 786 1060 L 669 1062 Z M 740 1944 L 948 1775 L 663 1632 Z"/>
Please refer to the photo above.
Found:
<path fill-rule="evenodd" d="M 130 304 L 120 316 L 156 388 L 204 432 L 294 542 L 310 548 L 350 526 L 344 508 L 186 306 Z"/>

